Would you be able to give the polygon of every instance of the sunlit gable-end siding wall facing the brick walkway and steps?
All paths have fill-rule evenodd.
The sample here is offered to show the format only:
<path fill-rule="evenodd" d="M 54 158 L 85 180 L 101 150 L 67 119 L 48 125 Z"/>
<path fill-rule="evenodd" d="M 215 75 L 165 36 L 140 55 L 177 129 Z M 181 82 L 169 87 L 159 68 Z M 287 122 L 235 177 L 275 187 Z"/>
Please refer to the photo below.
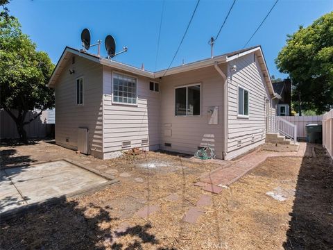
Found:
<path fill-rule="evenodd" d="M 256 60 L 257 61 L 257 60 Z M 232 60 L 229 65 L 237 71 L 228 74 L 228 150 L 227 159 L 263 144 L 266 137 L 266 107 L 270 99 L 262 71 L 253 53 Z M 249 91 L 249 117 L 237 117 L 238 86 Z M 254 136 L 254 139 L 253 139 Z M 238 145 L 238 141 L 241 144 Z"/>

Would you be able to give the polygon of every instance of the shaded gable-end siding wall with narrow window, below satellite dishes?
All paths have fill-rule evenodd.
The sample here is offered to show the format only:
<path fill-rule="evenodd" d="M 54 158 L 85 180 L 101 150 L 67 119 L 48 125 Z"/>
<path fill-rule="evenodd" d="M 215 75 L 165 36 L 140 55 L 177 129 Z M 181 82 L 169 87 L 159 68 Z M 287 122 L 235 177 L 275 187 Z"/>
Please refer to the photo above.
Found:
<path fill-rule="evenodd" d="M 74 74 L 69 74 L 74 69 Z M 83 76 L 83 106 L 76 105 L 76 78 Z M 56 90 L 56 144 L 77 149 L 78 128 L 88 128 L 88 153 L 102 157 L 102 79 L 103 67 L 76 56 L 65 64 Z M 66 142 L 68 138 L 68 142 Z"/>

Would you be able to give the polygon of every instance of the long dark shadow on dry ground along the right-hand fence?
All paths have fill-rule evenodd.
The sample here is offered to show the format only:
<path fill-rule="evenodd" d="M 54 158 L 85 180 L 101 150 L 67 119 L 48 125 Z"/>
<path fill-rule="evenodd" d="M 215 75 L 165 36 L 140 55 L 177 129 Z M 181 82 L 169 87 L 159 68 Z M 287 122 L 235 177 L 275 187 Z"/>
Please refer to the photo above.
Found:
<path fill-rule="evenodd" d="M 320 146 L 315 150 L 316 161 L 302 160 L 284 249 L 333 246 L 333 164 Z"/>

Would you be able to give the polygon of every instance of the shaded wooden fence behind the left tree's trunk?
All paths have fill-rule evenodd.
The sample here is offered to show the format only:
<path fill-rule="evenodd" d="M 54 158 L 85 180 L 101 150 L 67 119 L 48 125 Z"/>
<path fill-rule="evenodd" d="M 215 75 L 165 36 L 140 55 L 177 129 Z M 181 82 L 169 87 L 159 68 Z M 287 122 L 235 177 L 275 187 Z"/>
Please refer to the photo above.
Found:
<path fill-rule="evenodd" d="M 29 111 L 26 121 L 35 117 L 37 110 Z M 13 110 L 16 115 L 16 111 Z M 28 138 L 46 138 L 52 133 L 51 124 L 54 123 L 54 110 L 45 110 L 40 117 L 24 126 Z M 5 110 L 0 110 L 0 139 L 17 139 L 16 124 Z"/>

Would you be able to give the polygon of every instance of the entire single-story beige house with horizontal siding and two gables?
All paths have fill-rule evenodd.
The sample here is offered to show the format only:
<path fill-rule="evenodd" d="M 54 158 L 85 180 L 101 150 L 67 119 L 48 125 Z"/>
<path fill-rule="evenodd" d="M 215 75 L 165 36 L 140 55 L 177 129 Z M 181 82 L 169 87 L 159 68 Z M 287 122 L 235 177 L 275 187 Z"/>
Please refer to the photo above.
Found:
<path fill-rule="evenodd" d="M 56 144 L 108 159 L 139 147 L 230 159 L 265 142 L 275 114 L 261 47 L 159 72 L 66 47 L 49 81 Z"/>

